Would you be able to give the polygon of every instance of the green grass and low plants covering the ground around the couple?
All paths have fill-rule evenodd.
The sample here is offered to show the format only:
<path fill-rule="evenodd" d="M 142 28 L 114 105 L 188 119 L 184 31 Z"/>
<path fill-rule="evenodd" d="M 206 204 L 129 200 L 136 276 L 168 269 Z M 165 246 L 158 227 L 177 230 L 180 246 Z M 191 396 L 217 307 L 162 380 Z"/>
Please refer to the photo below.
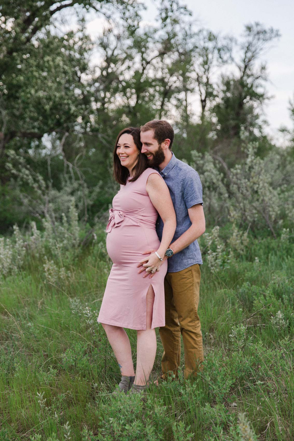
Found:
<path fill-rule="evenodd" d="M 256 439 L 293 441 L 290 246 L 251 239 L 230 268 L 211 274 L 202 266 L 203 373 L 151 384 L 145 405 L 136 396 L 111 396 L 120 372 L 95 321 L 110 269 L 105 252 L 96 246 L 71 262 L 54 285 L 36 260 L 0 283 L 0 441 L 36 434 L 46 441 L 54 433 L 73 441 L 249 440 L 239 430 L 243 412 Z M 136 360 L 136 331 L 128 335 Z M 153 378 L 162 355 L 157 336 Z"/>

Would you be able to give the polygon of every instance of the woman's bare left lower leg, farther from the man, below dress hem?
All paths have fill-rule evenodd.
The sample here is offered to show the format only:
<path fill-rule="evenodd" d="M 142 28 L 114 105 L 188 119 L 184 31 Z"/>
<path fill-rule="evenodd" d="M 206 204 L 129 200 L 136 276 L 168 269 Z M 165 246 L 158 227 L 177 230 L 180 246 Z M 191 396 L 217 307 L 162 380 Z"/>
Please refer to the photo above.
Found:
<path fill-rule="evenodd" d="M 124 328 L 106 325 L 105 323 L 101 324 L 106 332 L 114 355 L 116 356 L 118 366 L 121 370 L 121 375 L 127 375 L 128 377 L 134 376 L 135 372 L 132 361 L 131 344 Z"/>

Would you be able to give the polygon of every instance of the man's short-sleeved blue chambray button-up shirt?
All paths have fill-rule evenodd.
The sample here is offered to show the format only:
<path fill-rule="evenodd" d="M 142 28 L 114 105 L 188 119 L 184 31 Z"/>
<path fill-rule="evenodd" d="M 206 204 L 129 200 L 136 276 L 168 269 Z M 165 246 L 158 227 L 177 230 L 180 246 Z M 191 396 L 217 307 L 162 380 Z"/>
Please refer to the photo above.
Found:
<path fill-rule="evenodd" d="M 196 204 L 203 204 L 202 185 L 200 177 L 194 168 L 177 159 L 174 154 L 166 167 L 162 171 L 158 170 L 158 172 L 165 180 L 167 187 L 169 187 L 173 207 L 176 212 L 177 228 L 171 242 L 173 243 L 192 225 L 188 215 L 188 208 Z M 156 232 L 159 240 L 162 239 L 162 230 L 163 222 L 161 217 L 158 216 Z M 167 271 L 175 273 L 196 263 L 202 264 L 197 240 L 167 259 Z"/>

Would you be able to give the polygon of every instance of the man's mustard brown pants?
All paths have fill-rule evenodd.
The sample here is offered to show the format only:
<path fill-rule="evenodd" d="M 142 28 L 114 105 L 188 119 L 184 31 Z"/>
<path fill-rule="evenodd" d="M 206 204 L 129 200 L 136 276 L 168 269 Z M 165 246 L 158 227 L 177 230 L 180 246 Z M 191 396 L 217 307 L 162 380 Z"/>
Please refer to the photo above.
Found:
<path fill-rule="evenodd" d="M 199 265 L 192 265 L 176 273 L 166 273 L 164 293 L 166 325 L 159 328 L 163 345 L 162 378 L 170 371 L 177 377 L 181 362 L 181 334 L 185 353 L 185 374 L 196 375 L 203 362 L 201 324 L 198 317 L 200 288 Z"/>

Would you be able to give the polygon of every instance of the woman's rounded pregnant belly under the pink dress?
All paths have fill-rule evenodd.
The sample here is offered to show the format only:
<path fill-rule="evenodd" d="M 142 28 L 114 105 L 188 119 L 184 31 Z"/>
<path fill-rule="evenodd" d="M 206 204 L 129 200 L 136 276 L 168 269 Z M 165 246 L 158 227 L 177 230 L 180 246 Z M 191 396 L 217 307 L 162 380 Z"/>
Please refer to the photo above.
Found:
<path fill-rule="evenodd" d="M 126 223 L 112 228 L 107 234 L 106 248 L 113 263 L 136 264 L 150 248 L 158 249 L 160 245 L 155 228 Z"/>

